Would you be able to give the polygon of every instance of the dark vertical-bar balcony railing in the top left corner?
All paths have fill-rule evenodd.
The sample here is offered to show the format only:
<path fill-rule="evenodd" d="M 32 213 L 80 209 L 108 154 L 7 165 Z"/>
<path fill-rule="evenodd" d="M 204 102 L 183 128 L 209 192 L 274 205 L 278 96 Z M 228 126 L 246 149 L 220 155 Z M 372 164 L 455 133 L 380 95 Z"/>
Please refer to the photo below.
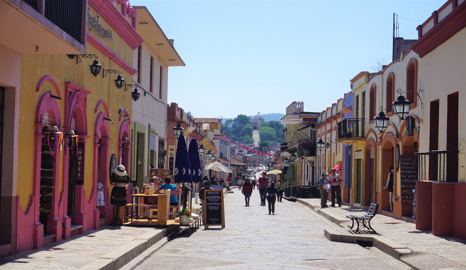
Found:
<path fill-rule="evenodd" d="M 80 43 L 82 41 L 82 0 L 23 0 Z"/>

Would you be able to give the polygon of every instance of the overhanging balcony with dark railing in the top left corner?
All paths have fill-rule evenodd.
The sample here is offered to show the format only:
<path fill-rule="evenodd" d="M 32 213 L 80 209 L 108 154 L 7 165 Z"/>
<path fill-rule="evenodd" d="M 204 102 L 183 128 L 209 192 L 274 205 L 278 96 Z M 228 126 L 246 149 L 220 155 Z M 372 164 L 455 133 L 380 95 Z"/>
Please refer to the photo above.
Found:
<path fill-rule="evenodd" d="M 0 1 L 0 44 L 21 54 L 85 53 L 86 3 L 83 0 Z"/>

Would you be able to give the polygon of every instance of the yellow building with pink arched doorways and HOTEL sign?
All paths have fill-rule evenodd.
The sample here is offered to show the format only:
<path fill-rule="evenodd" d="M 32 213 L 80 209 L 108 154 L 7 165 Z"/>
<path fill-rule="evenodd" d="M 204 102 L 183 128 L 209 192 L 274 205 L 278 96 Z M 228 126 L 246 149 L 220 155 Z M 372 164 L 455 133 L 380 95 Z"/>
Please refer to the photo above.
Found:
<path fill-rule="evenodd" d="M 115 79 L 121 75 L 131 83 L 133 51 L 143 41 L 136 11 L 117 3 L 89 0 L 83 8 L 79 29 L 86 55 L 39 54 L 40 48 L 22 55 L 17 251 L 114 218 L 109 175 L 119 164 L 130 173 L 132 104 L 131 89 L 117 89 Z M 93 76 L 90 65 L 97 71 L 97 63 Z M 98 182 L 103 201 L 97 201 Z"/>

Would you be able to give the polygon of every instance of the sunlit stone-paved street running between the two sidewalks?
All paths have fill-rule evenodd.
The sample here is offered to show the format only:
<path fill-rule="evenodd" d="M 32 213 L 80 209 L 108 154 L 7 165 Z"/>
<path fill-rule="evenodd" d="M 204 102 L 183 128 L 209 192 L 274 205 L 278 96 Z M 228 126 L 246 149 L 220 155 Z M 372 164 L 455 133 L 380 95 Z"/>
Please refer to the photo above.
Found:
<path fill-rule="evenodd" d="M 378 249 L 330 242 L 323 229 L 334 225 L 300 204 L 277 202 L 276 215 L 259 204 L 258 190 L 245 207 L 243 195 L 234 189 L 225 197 L 226 228 L 201 227 L 123 269 L 410 269 Z"/>

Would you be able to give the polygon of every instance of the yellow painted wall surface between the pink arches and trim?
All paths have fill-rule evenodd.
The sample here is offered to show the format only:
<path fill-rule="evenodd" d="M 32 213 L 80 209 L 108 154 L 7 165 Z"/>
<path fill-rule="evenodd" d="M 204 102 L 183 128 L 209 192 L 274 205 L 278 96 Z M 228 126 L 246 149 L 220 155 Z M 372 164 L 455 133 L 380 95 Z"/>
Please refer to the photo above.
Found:
<path fill-rule="evenodd" d="M 91 15 L 93 13 L 91 9 Z M 103 18 L 99 19 L 99 23 L 104 28 L 110 28 L 106 25 Z M 89 30 L 89 28 L 88 28 Z M 121 39 L 117 33 L 110 28 L 113 32 L 113 40 L 98 38 L 105 46 L 113 50 L 125 62 L 131 64 L 133 62 L 133 50 L 130 46 Z M 95 30 L 89 32 L 96 36 Z M 102 69 L 117 69 L 122 72 L 123 78 L 127 79 L 127 83 L 131 84 L 132 74 L 124 71 L 115 62 L 110 61 L 94 48 L 92 45 L 87 45 L 87 54 L 95 54 L 98 56 L 97 60 L 103 66 Z M 65 81 L 76 83 L 83 88 L 91 91 L 87 96 L 87 120 L 88 120 L 88 135 L 85 153 L 85 175 L 84 175 L 84 189 L 86 196 L 89 200 L 92 188 L 92 175 L 94 170 L 94 125 L 96 117 L 99 112 L 104 112 L 103 106 L 99 107 L 99 111 L 94 113 L 97 101 L 103 99 L 109 106 L 110 114 L 113 117 L 118 117 L 118 110 L 125 109 L 131 114 L 131 95 L 130 91 L 124 92 L 123 89 L 117 89 L 113 80 L 116 78 L 115 74 L 110 74 L 105 78 L 102 77 L 103 71 L 94 77 L 90 75 L 89 65 L 94 59 L 82 59 L 82 62 L 76 64 L 76 59 L 70 60 L 66 55 L 22 55 L 21 59 L 21 96 L 20 96 L 20 124 L 19 124 L 19 145 L 18 145 L 18 186 L 17 194 L 21 196 L 21 207 L 26 211 L 29 196 L 33 195 L 33 170 L 34 170 L 34 121 L 35 110 L 39 102 L 39 98 L 47 93 L 49 90 L 54 95 L 55 88 L 50 82 L 43 83 L 41 90 L 36 92 L 36 85 L 42 76 L 52 76 L 58 83 L 62 92 L 63 100 L 57 100 L 60 108 L 61 122 L 65 122 Z M 122 122 L 118 119 L 112 118 L 115 124 L 110 125 L 110 154 L 115 152 L 118 157 L 118 132 Z M 58 122 L 58 119 L 57 119 Z M 61 157 L 63 158 L 64 152 Z M 60 162 L 61 166 L 63 161 Z M 106 166 L 108 168 L 108 166 Z M 63 168 L 57 171 L 59 177 L 59 190 L 62 192 L 62 172 Z M 109 180 L 103 182 L 106 188 L 110 188 Z"/>

